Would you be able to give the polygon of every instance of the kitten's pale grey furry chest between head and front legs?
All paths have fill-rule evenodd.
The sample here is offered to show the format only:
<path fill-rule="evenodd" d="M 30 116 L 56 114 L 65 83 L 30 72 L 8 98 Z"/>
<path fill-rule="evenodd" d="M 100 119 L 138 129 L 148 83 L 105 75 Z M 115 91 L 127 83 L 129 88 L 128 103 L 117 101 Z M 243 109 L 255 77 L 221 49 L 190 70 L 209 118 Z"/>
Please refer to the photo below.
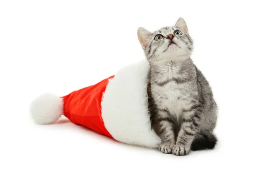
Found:
<path fill-rule="evenodd" d="M 151 91 L 157 108 L 177 116 L 192 106 L 192 98 L 197 95 L 195 71 L 183 64 L 169 62 L 151 69 Z"/>

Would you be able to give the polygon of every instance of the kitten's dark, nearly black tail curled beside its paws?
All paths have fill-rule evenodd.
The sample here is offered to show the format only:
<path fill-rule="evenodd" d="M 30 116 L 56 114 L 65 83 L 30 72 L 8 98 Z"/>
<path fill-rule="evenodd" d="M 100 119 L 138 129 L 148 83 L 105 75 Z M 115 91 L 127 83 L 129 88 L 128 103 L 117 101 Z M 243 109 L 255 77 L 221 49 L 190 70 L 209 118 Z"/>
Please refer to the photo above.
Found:
<path fill-rule="evenodd" d="M 191 150 L 213 149 L 217 141 L 218 140 L 213 133 L 201 134 L 192 142 Z"/>

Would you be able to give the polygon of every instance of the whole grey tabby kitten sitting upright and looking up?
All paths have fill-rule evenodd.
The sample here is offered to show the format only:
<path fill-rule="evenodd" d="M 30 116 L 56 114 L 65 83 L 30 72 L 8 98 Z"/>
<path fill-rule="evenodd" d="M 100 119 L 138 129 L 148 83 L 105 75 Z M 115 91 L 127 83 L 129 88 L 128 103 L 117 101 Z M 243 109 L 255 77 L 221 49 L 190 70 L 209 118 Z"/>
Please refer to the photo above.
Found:
<path fill-rule="evenodd" d="M 192 62 L 193 41 L 182 18 L 154 33 L 138 29 L 151 65 L 148 100 L 152 127 L 162 139 L 160 151 L 178 156 L 212 149 L 217 139 L 217 105 L 204 75 Z M 152 104 L 153 103 L 153 104 Z"/>

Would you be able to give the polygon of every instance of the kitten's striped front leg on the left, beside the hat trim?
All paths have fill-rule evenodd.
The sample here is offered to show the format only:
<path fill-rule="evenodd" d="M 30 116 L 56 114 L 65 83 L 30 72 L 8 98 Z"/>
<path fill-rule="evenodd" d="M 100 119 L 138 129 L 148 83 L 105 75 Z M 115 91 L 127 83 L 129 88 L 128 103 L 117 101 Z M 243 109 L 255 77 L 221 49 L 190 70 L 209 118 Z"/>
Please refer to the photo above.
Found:
<path fill-rule="evenodd" d="M 157 114 L 157 122 L 159 125 L 159 136 L 162 140 L 159 150 L 162 153 L 172 153 L 175 145 L 175 136 L 173 131 L 173 123 L 166 110 L 159 110 Z"/>

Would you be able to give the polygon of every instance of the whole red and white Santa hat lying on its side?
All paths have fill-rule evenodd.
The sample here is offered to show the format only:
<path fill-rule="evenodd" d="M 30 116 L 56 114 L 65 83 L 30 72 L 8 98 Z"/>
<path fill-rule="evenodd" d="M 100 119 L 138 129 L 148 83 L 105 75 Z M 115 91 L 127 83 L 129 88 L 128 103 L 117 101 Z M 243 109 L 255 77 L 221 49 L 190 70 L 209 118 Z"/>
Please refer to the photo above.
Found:
<path fill-rule="evenodd" d="M 101 82 L 59 97 L 44 94 L 31 103 L 32 118 L 50 124 L 61 115 L 119 142 L 158 147 L 161 139 L 151 127 L 146 60 L 120 69 Z"/>

